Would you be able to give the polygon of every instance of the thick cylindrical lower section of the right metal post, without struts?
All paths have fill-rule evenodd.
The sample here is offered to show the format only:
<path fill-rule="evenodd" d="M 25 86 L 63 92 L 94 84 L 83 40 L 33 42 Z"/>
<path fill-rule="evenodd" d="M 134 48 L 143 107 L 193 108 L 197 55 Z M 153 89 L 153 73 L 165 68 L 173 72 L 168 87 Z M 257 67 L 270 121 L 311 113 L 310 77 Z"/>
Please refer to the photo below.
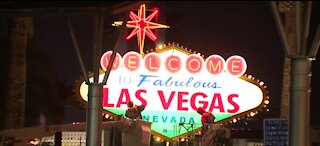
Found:
<path fill-rule="evenodd" d="M 310 68 L 307 57 L 291 59 L 289 145 L 309 145 Z"/>

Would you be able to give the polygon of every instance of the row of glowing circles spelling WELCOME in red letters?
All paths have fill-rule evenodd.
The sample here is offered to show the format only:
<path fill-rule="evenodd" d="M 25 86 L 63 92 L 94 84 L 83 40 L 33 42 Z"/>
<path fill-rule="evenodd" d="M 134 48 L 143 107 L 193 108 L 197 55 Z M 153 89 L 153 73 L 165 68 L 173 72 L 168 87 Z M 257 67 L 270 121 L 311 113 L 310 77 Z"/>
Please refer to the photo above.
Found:
<path fill-rule="evenodd" d="M 111 54 L 112 51 L 108 51 L 101 57 L 100 64 L 104 70 L 108 67 Z M 200 73 L 205 68 L 212 75 L 227 72 L 236 77 L 242 76 L 247 69 L 245 59 L 238 55 L 233 55 L 225 60 L 223 57 L 215 54 L 204 60 L 197 54 L 191 54 L 187 58 L 183 58 L 174 54 L 163 57 L 158 53 L 152 52 L 142 58 L 139 53 L 134 51 L 127 52 L 123 57 L 118 53 L 116 54 L 112 70 L 117 70 L 122 66 L 132 72 L 144 67 L 149 72 L 158 72 L 163 68 L 169 73 L 177 73 L 184 67 L 191 74 Z"/>

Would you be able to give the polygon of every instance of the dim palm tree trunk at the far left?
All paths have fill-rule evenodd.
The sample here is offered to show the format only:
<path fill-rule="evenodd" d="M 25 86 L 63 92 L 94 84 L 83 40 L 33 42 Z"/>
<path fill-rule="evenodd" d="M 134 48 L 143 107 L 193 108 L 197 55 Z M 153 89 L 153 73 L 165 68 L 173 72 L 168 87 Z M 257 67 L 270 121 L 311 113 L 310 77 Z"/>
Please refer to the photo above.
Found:
<path fill-rule="evenodd" d="M 30 17 L 16 17 L 11 20 L 5 128 L 24 127 L 26 49 L 32 28 Z"/>

